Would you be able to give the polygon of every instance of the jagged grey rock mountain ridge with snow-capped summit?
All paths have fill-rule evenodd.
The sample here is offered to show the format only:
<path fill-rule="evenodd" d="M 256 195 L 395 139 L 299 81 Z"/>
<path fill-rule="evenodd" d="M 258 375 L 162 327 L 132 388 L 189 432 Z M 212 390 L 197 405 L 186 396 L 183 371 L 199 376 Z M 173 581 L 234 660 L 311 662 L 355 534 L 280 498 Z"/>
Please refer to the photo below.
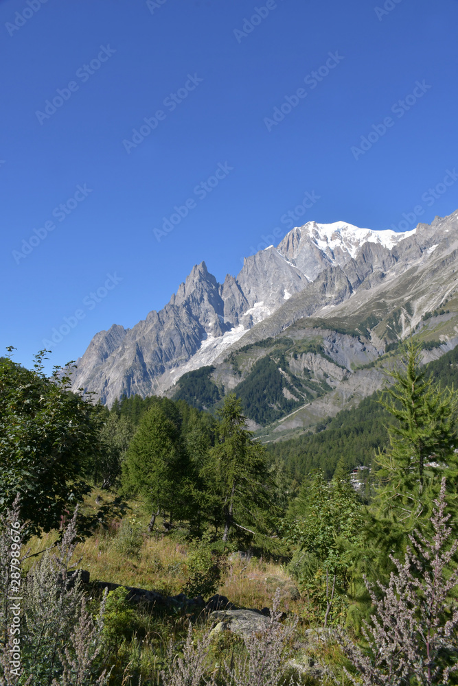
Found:
<path fill-rule="evenodd" d="M 387 283 L 396 289 L 402 282 L 408 296 L 444 263 L 451 273 L 457 231 L 458 211 L 407 233 L 309 222 L 293 228 L 277 248 L 246 258 L 238 276 L 228 274 L 222 284 L 202 262 L 163 309 L 133 329 L 113 324 L 96 334 L 78 359 L 72 388 L 95 391 L 108 406 L 122 394 L 161 394 L 184 372 L 251 342 L 251 331 L 260 340 L 300 318 L 328 316 L 331 308 L 352 311 Z M 417 285 L 406 277 L 413 268 L 422 270 Z M 442 290 L 439 285 L 433 295 L 442 298 Z"/>

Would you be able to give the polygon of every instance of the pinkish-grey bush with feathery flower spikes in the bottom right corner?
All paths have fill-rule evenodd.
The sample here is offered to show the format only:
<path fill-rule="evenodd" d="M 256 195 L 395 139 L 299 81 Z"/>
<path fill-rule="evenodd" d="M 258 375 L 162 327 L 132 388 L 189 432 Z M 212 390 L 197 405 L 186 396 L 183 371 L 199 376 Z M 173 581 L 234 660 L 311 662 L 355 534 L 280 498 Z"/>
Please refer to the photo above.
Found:
<path fill-rule="evenodd" d="M 358 672 L 355 677 L 345 669 L 355 686 L 442 686 L 450 683 L 452 672 L 457 673 L 458 569 L 453 560 L 458 541 L 450 544 L 445 478 L 435 506 L 431 540 L 411 536 L 404 563 L 391 556 L 396 572 L 389 585 L 367 583 L 374 606 L 371 624 L 364 622 L 363 628 L 369 650 L 343 632 L 338 634 L 345 656 Z"/>

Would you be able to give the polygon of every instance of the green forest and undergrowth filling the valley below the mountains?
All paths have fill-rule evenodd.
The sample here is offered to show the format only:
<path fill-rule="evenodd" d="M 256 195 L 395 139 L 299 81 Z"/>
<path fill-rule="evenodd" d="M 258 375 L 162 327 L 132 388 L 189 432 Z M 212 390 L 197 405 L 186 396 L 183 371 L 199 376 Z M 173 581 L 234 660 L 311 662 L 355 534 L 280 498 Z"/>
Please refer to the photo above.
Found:
<path fill-rule="evenodd" d="M 455 351 L 421 368 L 421 346 L 408 342 L 382 404 L 367 399 L 284 453 L 255 439 L 236 394 L 214 415 L 159 397 L 108 410 L 70 392 L 59 370 L 48 379 L 45 351 L 34 370 L 8 353 L 0 588 L 3 598 L 21 589 L 23 643 L 8 629 L 14 608 L 1 604 L 2 686 L 382 685 L 393 674 L 400 685 L 457 683 L 458 401 L 441 383 L 455 378 Z M 358 453 L 345 453 L 360 436 L 360 450 L 380 448 L 361 494 L 349 477 Z M 153 588 L 145 593 L 157 600 L 135 604 L 139 589 L 90 584 L 75 567 L 77 545 L 102 573 L 115 565 L 133 579 L 152 545 L 173 548 L 183 563 L 148 565 L 179 593 Z M 235 590 L 236 603 L 204 600 L 234 589 L 235 568 L 242 579 L 266 560 L 284 575 L 273 578 L 270 611 L 253 608 L 259 594 L 248 606 Z M 258 632 L 216 635 L 228 613 L 270 618 Z M 310 650 L 323 628 L 333 632 L 312 649 L 321 671 L 304 658 L 304 672 L 294 646 Z"/>

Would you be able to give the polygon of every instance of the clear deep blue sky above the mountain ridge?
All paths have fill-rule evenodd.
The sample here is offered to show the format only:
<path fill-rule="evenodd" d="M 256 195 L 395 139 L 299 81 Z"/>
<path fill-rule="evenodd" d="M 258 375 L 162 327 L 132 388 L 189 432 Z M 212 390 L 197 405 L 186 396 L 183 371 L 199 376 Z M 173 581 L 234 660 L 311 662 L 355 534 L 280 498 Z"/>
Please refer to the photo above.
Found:
<path fill-rule="evenodd" d="M 76 359 L 288 212 L 455 211 L 457 25 L 457 0 L 1 1 L 2 350 L 61 329 L 49 368 Z"/>

